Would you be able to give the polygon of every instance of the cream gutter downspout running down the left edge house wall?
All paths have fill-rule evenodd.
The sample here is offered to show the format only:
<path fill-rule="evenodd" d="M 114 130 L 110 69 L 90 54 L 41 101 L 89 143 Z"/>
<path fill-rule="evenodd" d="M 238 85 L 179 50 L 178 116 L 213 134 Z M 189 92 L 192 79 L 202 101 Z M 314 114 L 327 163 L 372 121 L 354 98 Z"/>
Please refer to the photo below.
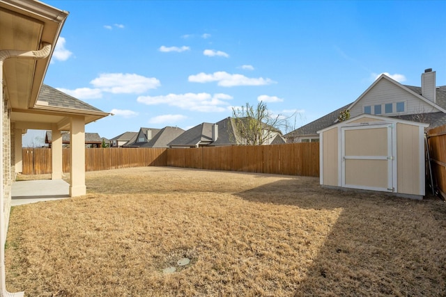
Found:
<path fill-rule="evenodd" d="M 19 51 L 15 49 L 0 50 L 0 160 L 3 160 L 3 61 L 8 58 L 30 58 L 39 60 L 47 58 L 51 52 L 51 45 L 42 42 L 43 48 L 38 51 Z M 24 292 L 10 293 L 6 291 L 5 271 L 5 243 L 6 243 L 6 219 L 5 219 L 5 197 L 3 186 L 3 161 L 0 161 L 0 296 L 22 297 Z"/>

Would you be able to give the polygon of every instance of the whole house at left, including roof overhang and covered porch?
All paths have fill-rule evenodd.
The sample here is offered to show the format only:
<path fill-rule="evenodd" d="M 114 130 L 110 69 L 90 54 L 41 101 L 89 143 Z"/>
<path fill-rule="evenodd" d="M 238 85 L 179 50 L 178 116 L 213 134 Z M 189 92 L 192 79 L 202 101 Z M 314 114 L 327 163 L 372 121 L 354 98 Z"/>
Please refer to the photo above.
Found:
<path fill-rule="evenodd" d="M 74 97 L 43 85 L 56 42 L 68 12 L 40 1 L 0 0 L 0 262 L 15 173 L 22 170 L 22 134 L 27 129 L 52 131 L 52 179 L 62 178 L 61 131 L 72 134 L 70 196 L 84 195 L 85 125 L 109 115 Z M 0 267 L 1 296 L 6 291 L 5 266 Z"/>

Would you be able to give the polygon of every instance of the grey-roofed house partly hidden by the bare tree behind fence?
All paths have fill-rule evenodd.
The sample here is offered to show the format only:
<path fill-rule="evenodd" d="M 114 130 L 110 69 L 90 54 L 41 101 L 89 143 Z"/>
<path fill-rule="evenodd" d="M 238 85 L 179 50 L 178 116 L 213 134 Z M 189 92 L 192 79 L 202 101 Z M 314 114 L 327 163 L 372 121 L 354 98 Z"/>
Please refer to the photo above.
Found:
<path fill-rule="evenodd" d="M 279 136 L 279 137 L 277 137 Z M 279 130 L 273 129 L 267 145 L 285 143 L 281 137 L 282 134 Z M 203 122 L 197 125 L 183 134 L 175 138 L 169 147 L 202 147 L 202 146 L 222 146 L 222 145 L 238 145 L 243 143 L 243 138 L 236 131 L 235 119 L 224 118 L 220 122 L 215 124 L 209 122 Z"/>

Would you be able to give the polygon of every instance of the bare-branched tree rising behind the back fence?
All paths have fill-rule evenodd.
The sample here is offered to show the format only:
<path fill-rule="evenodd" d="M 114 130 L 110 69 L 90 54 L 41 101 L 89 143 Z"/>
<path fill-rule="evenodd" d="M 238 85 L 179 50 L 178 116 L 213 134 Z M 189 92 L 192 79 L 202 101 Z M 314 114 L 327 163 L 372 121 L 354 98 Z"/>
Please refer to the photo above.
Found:
<path fill-rule="evenodd" d="M 277 134 L 282 135 L 279 127 L 288 119 L 282 115 L 272 115 L 263 102 L 257 106 L 247 103 L 240 108 L 233 108 L 232 114 L 239 145 L 268 144 Z"/>

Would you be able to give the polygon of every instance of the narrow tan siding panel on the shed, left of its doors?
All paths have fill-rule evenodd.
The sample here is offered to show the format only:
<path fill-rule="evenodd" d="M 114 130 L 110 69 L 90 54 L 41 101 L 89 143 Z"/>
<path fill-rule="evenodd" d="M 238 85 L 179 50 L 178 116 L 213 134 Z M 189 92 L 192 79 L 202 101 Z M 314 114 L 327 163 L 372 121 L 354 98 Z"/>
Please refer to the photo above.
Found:
<path fill-rule="evenodd" d="M 323 132 L 323 184 L 338 185 L 338 136 L 337 128 Z"/>

